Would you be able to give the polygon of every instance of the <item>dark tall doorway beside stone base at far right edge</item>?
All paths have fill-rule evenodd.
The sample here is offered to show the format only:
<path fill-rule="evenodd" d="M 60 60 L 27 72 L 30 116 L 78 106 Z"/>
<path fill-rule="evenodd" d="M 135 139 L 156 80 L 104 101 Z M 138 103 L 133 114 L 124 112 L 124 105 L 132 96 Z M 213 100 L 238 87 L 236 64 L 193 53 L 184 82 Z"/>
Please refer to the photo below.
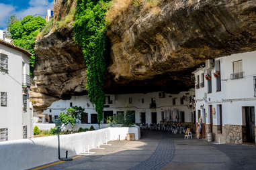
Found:
<path fill-rule="evenodd" d="M 246 139 L 249 143 L 255 143 L 255 110 L 254 107 L 245 107 Z"/>

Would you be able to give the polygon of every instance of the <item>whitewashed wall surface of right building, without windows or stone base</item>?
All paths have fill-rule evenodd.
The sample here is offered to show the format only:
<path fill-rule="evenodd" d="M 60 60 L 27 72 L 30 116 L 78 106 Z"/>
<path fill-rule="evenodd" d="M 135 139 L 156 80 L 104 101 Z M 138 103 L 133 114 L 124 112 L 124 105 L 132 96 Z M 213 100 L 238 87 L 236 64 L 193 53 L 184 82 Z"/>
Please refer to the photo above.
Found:
<path fill-rule="evenodd" d="M 216 109 L 216 114 L 213 115 L 213 124 L 218 125 L 218 110 L 217 104 L 222 104 L 222 124 L 245 125 L 243 123 L 243 106 L 255 106 L 256 98 L 254 96 L 253 76 L 256 76 L 256 52 L 248 52 L 243 54 L 233 54 L 222 58 L 220 60 L 221 70 L 221 92 L 216 92 L 216 78 L 214 78 L 212 70 L 212 93 L 207 94 L 204 99 L 204 93 L 208 92 L 207 80 L 205 80 L 205 87 L 196 89 L 196 115 L 198 121 L 198 110 L 204 105 L 206 109 L 206 123 L 210 124 L 210 110 L 209 105 Z M 233 72 L 232 62 L 242 60 L 244 78 L 237 80 L 230 80 L 230 74 Z M 203 69 L 195 72 L 195 76 L 201 75 Z M 202 82 L 200 77 L 200 82 Z M 209 100 L 210 99 L 210 100 Z M 256 118 L 256 117 L 255 117 Z"/>

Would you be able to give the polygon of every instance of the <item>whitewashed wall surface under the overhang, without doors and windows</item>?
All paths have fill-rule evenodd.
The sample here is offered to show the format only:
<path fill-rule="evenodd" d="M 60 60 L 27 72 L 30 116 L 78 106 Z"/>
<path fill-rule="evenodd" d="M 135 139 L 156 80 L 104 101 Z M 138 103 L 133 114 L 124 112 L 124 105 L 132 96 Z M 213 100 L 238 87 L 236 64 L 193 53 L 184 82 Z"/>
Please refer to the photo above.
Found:
<path fill-rule="evenodd" d="M 151 112 L 157 112 L 157 122 L 161 121 L 161 112 L 167 112 L 167 110 L 179 110 L 185 112 L 185 122 L 192 122 L 193 108 L 190 108 L 189 100 L 184 100 L 184 104 L 180 103 L 180 98 L 186 96 L 187 99 L 189 96 L 194 97 L 194 89 L 189 90 L 188 92 L 180 92 L 179 94 L 167 94 L 165 93 L 165 98 L 159 98 L 159 92 L 151 92 L 147 94 L 118 94 L 118 95 L 108 95 L 111 96 L 113 104 L 108 104 L 110 107 L 104 108 L 104 111 L 111 110 L 114 114 L 118 111 L 124 111 L 126 106 L 129 110 L 135 111 L 135 122 L 140 123 L 140 112 L 146 112 L 146 123 L 151 123 Z M 132 97 L 132 103 L 129 104 L 129 97 Z M 144 103 L 142 103 L 142 98 Z M 157 108 L 149 108 L 151 103 L 151 98 L 156 98 Z M 177 98 L 176 104 L 173 105 L 173 98 Z M 52 118 L 58 116 L 60 112 L 65 112 L 69 108 L 70 103 L 73 103 L 73 106 L 81 106 L 85 108 L 85 112 L 88 113 L 88 122 L 91 122 L 91 114 L 95 114 L 95 108 L 89 102 L 88 96 L 73 96 L 71 100 L 59 100 L 52 103 L 52 105 L 44 111 L 44 114 L 51 114 Z M 50 112 L 51 110 L 51 112 Z M 165 114 L 165 117 L 167 115 Z"/>

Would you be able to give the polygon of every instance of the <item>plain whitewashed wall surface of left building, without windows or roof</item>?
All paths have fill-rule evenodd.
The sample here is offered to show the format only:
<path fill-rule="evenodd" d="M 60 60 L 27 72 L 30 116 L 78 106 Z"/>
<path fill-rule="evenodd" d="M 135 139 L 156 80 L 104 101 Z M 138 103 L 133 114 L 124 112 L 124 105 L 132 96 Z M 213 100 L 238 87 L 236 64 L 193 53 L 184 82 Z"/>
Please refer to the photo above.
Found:
<path fill-rule="evenodd" d="M 32 114 L 27 100 L 27 112 L 23 112 L 22 78 L 24 72 L 30 74 L 29 57 L 0 44 L 0 53 L 8 56 L 8 73 L 0 72 L 0 92 L 7 92 L 7 107 L 0 106 L 0 129 L 8 128 L 8 139 L 22 139 L 22 126 L 28 127 L 28 137 L 32 137 Z M 26 70 L 22 68 L 25 63 Z"/>

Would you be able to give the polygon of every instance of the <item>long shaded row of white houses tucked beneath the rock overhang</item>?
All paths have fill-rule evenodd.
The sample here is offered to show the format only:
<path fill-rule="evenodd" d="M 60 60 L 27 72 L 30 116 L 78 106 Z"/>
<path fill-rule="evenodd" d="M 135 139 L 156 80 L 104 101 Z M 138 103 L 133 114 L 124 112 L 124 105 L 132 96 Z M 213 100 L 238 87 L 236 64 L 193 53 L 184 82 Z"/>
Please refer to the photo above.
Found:
<path fill-rule="evenodd" d="M 161 121 L 193 122 L 194 90 L 179 94 L 151 92 L 148 94 L 116 94 L 105 96 L 104 122 L 108 116 L 128 109 L 135 113 L 134 123 L 160 123 Z M 88 96 L 73 96 L 71 100 L 59 100 L 44 111 L 48 122 L 54 122 L 60 112 L 71 106 L 85 108 L 87 116 L 84 123 L 97 123 L 97 112 L 89 102 Z M 196 120 L 196 117 L 195 117 Z M 47 121 L 47 120 L 46 120 Z"/>

